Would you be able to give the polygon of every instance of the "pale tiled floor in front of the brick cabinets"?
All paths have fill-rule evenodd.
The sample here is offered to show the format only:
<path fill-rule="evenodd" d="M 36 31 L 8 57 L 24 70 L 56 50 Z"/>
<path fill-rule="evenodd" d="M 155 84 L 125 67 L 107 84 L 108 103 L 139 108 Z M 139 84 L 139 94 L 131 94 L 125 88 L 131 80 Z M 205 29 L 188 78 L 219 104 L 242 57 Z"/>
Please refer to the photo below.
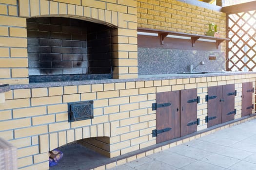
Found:
<path fill-rule="evenodd" d="M 256 119 L 110 170 L 256 170 Z"/>

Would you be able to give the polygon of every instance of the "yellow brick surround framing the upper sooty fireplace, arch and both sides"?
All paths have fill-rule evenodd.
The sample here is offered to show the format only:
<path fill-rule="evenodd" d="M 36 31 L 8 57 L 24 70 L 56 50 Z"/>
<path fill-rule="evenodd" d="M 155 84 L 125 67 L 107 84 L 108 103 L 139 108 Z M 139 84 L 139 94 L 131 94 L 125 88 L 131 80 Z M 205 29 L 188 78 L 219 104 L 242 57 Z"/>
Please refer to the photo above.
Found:
<path fill-rule="evenodd" d="M 137 78 L 136 0 L 0 0 L 1 83 L 28 83 L 26 18 L 60 15 L 115 27 L 113 76 Z"/>

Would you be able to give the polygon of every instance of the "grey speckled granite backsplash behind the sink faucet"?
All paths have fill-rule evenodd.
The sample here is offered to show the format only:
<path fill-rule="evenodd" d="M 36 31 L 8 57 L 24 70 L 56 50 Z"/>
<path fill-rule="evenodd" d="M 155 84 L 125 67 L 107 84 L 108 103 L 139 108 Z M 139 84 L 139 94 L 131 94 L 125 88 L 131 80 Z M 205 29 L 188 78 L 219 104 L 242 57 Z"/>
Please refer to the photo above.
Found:
<path fill-rule="evenodd" d="M 216 60 L 209 60 L 209 55 L 215 55 Z M 189 65 L 196 67 L 201 61 L 205 65 L 193 71 L 226 70 L 223 52 L 138 48 L 138 75 L 188 72 Z"/>

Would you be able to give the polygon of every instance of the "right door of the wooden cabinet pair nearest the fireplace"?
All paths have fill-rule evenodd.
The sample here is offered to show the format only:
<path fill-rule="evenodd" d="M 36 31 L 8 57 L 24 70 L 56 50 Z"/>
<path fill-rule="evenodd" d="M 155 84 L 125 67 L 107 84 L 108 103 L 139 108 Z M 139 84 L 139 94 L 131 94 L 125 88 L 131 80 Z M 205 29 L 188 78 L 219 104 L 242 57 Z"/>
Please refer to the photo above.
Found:
<path fill-rule="evenodd" d="M 180 137 L 197 131 L 197 89 L 180 90 Z"/>

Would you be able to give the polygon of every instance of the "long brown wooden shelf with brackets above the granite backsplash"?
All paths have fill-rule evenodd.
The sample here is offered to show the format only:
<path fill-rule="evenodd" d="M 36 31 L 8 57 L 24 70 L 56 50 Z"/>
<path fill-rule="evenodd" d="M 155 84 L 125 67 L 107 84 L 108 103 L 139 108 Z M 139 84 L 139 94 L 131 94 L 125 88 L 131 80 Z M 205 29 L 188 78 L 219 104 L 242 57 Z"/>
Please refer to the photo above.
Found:
<path fill-rule="evenodd" d="M 167 37 L 167 35 L 175 35 L 175 38 L 180 39 L 187 39 L 186 37 L 190 37 L 192 47 L 195 47 L 196 41 L 200 38 L 202 40 L 214 40 L 216 41 L 216 48 L 218 49 L 218 46 L 223 41 L 229 41 L 229 38 L 219 38 L 214 36 L 207 36 L 207 35 L 199 35 L 199 34 L 189 34 L 189 33 L 179 33 L 174 31 L 161 31 L 161 30 L 153 30 L 153 29 L 146 29 L 146 28 L 138 28 L 138 32 L 143 33 L 155 33 L 158 34 L 160 38 L 160 44 L 164 44 L 164 38 Z M 183 38 L 182 38 L 183 37 Z"/>

